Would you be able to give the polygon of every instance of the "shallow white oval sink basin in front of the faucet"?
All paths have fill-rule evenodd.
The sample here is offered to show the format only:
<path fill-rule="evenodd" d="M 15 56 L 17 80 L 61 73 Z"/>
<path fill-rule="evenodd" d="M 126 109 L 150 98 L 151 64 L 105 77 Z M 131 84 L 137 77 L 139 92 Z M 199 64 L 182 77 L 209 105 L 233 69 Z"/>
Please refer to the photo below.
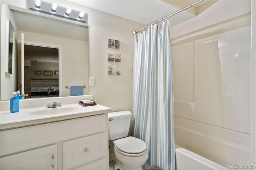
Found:
<path fill-rule="evenodd" d="M 29 115 L 54 115 L 54 114 L 60 114 L 60 113 L 69 113 L 72 111 L 75 111 L 76 107 L 56 107 L 56 108 L 47 108 L 43 111 L 36 111 L 29 113 Z"/>

